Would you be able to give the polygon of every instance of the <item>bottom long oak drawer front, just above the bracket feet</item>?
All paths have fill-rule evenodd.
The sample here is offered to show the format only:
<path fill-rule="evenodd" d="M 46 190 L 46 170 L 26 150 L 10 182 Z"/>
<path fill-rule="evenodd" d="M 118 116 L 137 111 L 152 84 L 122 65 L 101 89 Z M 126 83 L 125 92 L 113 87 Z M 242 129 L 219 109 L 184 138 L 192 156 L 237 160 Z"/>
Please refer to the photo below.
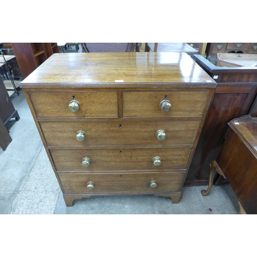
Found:
<path fill-rule="evenodd" d="M 185 172 L 170 173 L 119 173 L 119 174 L 59 174 L 66 194 L 104 194 L 104 193 L 150 193 L 178 191 Z M 157 186 L 150 187 L 155 180 Z M 94 188 L 87 189 L 87 183 L 95 183 Z"/>

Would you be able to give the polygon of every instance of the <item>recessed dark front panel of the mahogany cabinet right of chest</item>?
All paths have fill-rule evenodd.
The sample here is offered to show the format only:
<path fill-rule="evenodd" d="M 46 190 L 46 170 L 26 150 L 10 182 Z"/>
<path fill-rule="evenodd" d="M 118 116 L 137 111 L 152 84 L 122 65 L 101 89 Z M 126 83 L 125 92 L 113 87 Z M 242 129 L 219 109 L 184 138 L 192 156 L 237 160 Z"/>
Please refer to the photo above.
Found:
<path fill-rule="evenodd" d="M 221 151 L 228 130 L 227 123 L 233 118 L 241 116 L 241 109 L 247 96 L 248 94 L 232 93 L 214 95 L 189 168 L 186 185 L 190 185 L 190 180 L 203 180 L 203 182 L 205 180 L 208 183 L 209 164 L 217 158 Z"/>

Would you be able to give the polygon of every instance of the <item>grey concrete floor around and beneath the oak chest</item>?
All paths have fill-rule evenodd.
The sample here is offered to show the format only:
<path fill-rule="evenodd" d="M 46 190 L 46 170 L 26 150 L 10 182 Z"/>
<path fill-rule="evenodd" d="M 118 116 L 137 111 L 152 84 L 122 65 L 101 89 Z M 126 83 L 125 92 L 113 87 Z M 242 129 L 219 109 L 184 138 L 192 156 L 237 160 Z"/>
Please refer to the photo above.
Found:
<path fill-rule="evenodd" d="M 75 50 L 75 47 L 72 47 Z M 153 195 L 94 196 L 66 207 L 25 96 L 12 96 L 21 119 L 7 124 L 12 142 L 0 148 L 0 214 L 238 214 L 229 185 L 185 187 L 178 204 Z"/>

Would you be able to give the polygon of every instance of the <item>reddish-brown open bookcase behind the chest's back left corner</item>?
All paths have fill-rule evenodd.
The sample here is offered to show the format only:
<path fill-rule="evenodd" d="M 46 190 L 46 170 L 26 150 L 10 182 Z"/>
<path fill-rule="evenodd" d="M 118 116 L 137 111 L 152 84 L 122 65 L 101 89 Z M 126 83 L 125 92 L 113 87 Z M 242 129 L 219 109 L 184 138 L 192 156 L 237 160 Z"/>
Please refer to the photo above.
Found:
<path fill-rule="evenodd" d="M 59 53 L 57 43 L 11 43 L 17 63 L 25 79 L 53 53 Z"/>

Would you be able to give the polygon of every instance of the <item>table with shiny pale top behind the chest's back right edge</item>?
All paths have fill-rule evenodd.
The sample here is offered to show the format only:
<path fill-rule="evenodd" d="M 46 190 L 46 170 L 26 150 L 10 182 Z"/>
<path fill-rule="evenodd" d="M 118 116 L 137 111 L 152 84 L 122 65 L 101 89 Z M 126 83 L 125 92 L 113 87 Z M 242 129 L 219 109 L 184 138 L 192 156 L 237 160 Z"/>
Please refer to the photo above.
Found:
<path fill-rule="evenodd" d="M 190 56 L 193 54 L 205 54 L 206 43 L 199 43 L 199 48 L 195 49 L 187 43 L 145 43 L 145 52 L 186 52 Z"/>

